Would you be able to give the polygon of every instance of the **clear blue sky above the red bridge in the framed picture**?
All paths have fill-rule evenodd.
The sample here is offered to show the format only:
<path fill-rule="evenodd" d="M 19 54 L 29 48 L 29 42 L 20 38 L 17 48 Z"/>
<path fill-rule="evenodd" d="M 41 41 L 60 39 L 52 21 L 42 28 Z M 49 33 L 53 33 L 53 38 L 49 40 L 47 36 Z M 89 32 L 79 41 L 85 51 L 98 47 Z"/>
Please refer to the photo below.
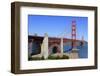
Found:
<path fill-rule="evenodd" d="M 67 34 L 66 38 L 71 38 L 72 21 L 76 21 L 77 39 L 84 36 L 88 40 L 88 17 L 75 16 L 50 16 L 50 15 L 28 15 L 28 34 L 44 36 L 48 33 L 49 37 L 61 36 Z"/>

